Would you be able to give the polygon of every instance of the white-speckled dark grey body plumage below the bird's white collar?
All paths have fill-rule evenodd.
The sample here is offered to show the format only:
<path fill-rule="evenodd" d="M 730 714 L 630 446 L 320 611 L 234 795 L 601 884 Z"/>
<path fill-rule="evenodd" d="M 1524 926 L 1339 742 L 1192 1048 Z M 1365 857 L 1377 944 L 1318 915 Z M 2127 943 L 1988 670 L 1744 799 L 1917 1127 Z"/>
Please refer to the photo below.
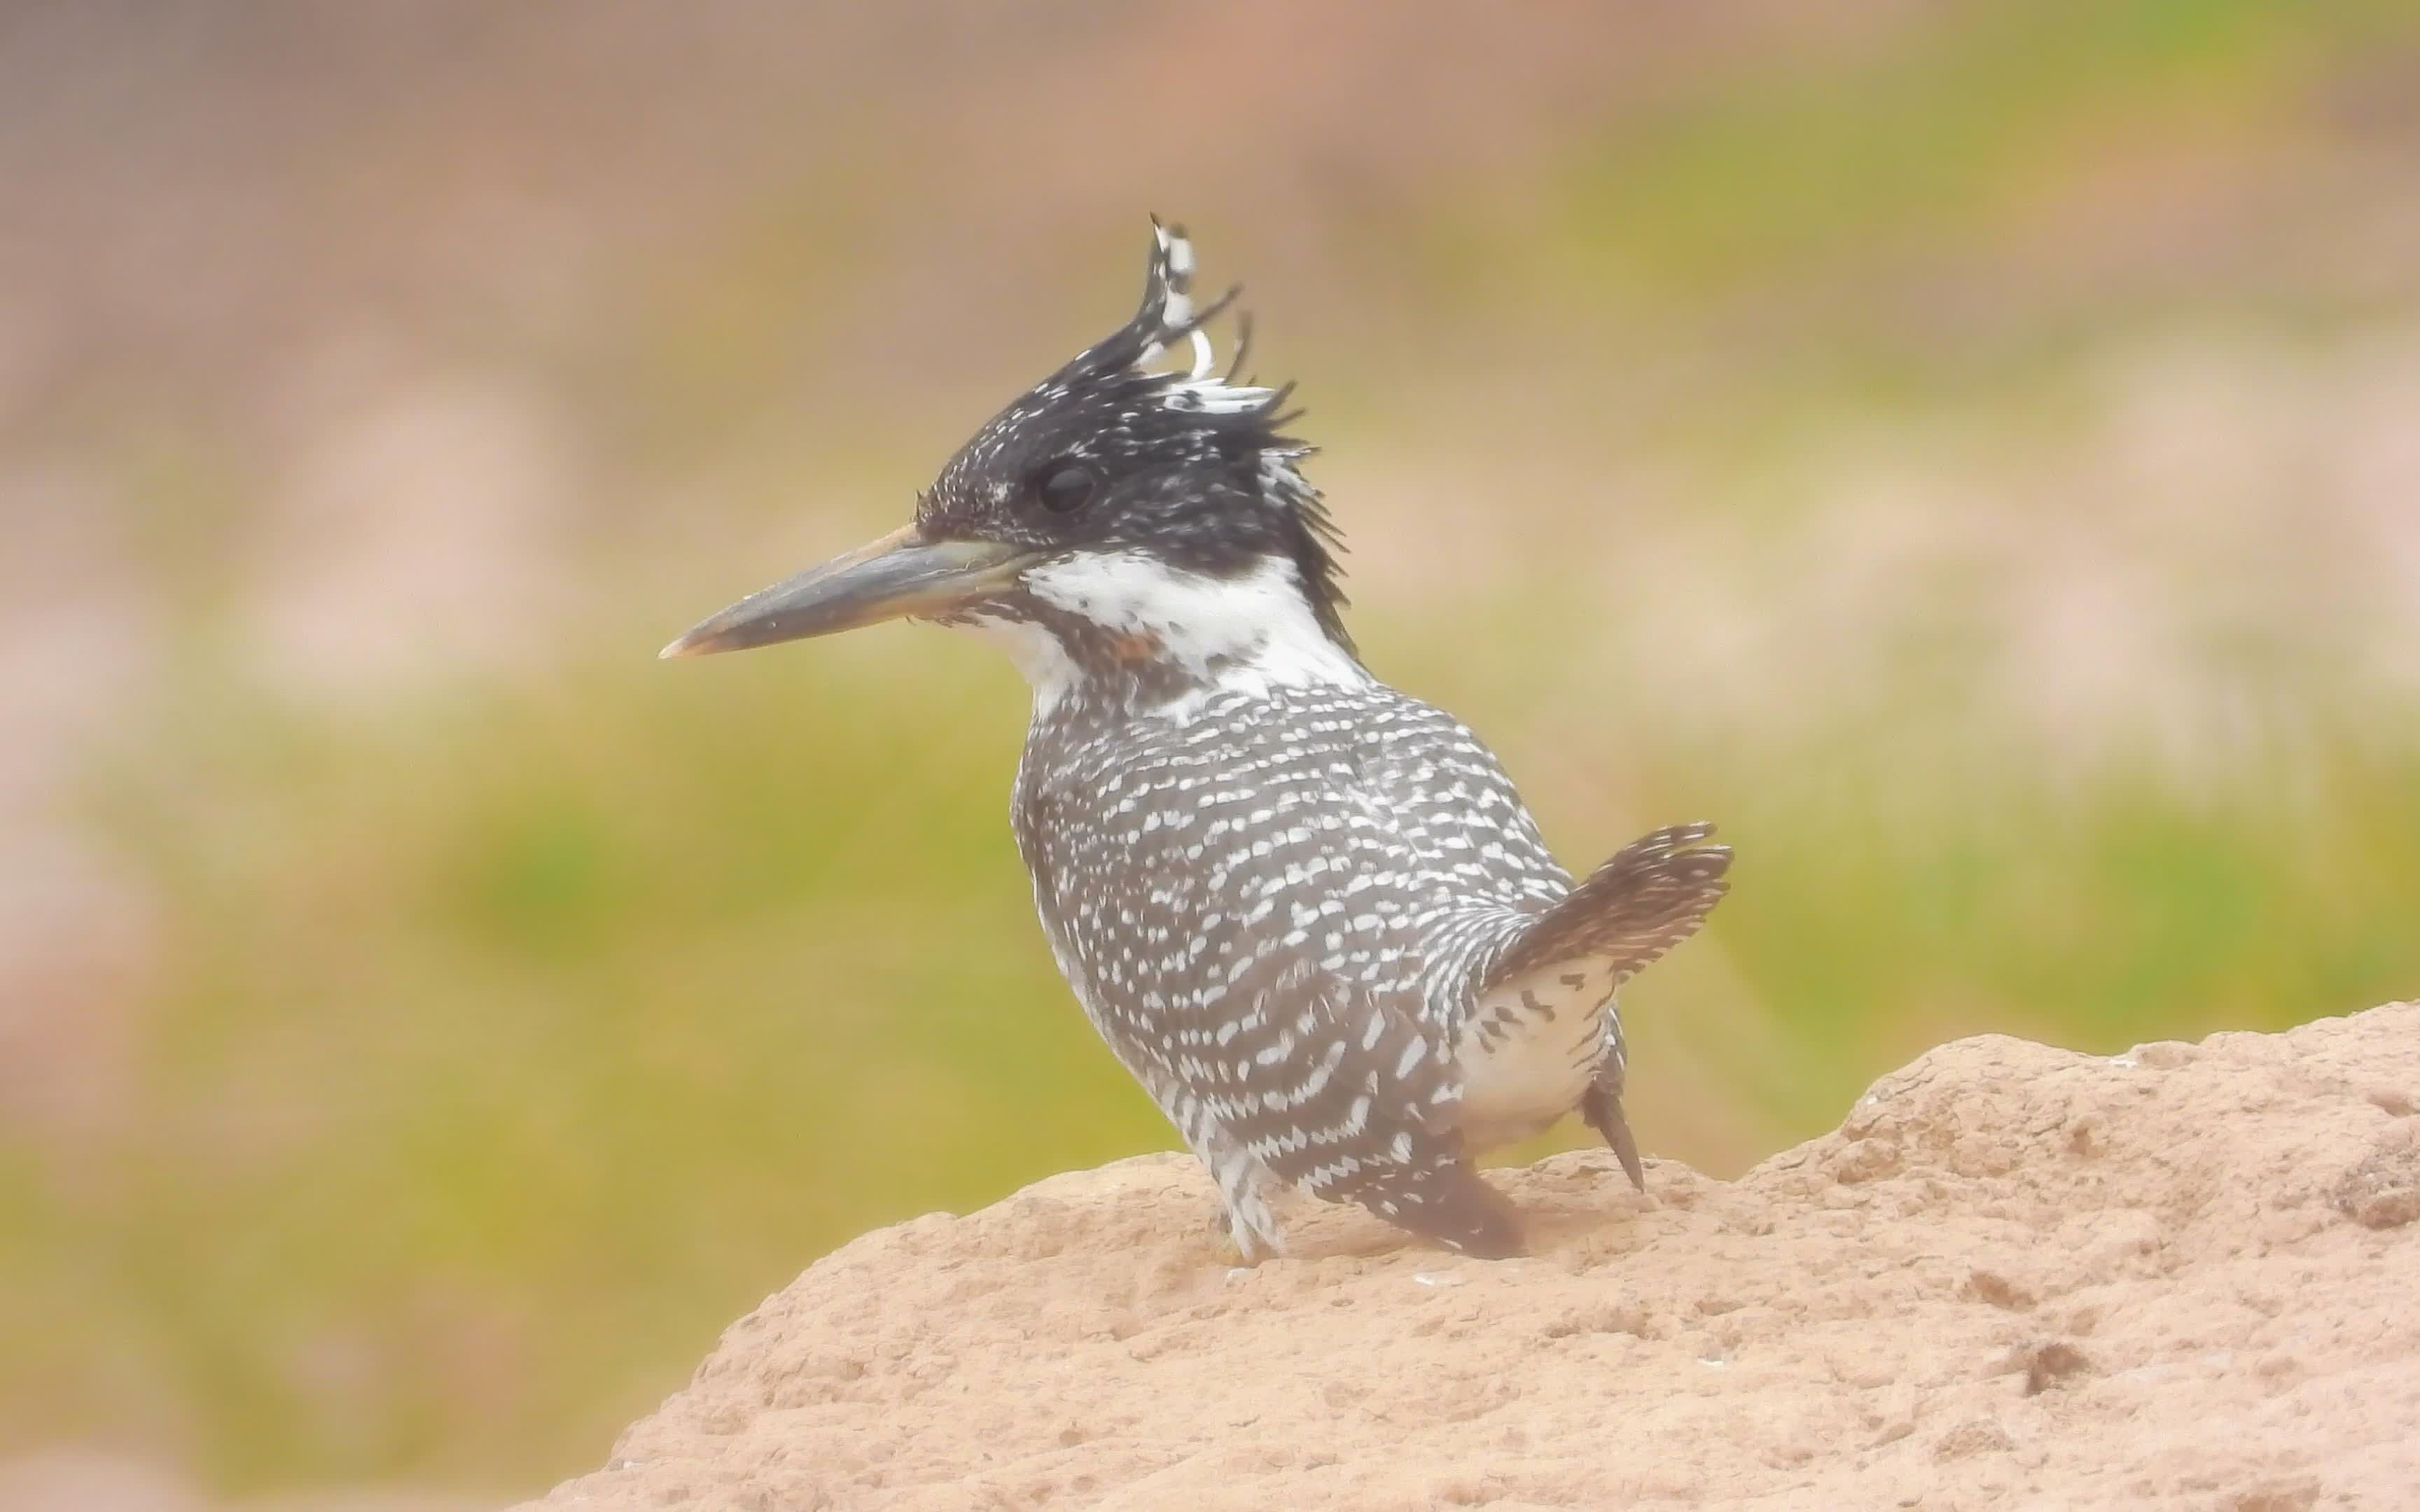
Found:
<path fill-rule="evenodd" d="M 1418 699 L 1372 680 L 1280 687 L 1176 721 L 1070 697 L 1028 735 L 1014 823 L 1060 970 L 1210 1166 L 1246 1253 L 1278 1243 L 1268 1183 L 1510 1253 L 1517 1227 L 1471 1147 L 1527 1137 L 1590 1091 L 1619 1120 L 1612 980 L 1592 1002 L 1481 992 L 1571 876 L 1488 750 Z M 1650 847 L 1687 895 L 1655 898 L 1638 934 L 1684 936 L 1718 895 L 1721 852 L 1687 849 L 1701 835 Z M 1602 958 L 1626 975 L 1670 943 Z M 1474 1074 L 1558 1014 L 1583 1050 L 1568 1089 L 1515 1089 L 1467 1127 Z"/>

